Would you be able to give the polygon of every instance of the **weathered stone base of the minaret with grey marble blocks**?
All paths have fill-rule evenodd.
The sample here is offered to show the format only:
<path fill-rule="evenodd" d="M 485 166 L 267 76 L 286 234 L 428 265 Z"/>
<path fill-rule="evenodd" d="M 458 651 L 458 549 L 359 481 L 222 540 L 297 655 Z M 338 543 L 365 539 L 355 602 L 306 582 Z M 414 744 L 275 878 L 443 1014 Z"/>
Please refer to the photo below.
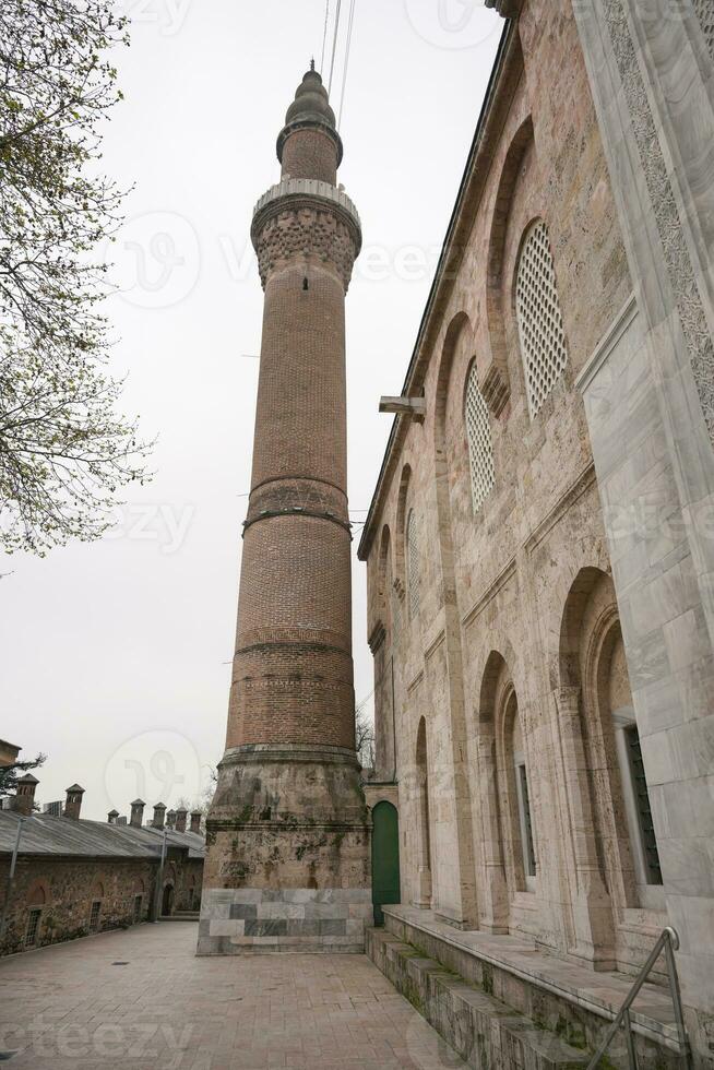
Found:
<path fill-rule="evenodd" d="M 209 847 L 199 954 L 364 952 L 369 828 L 354 750 L 227 751 Z"/>

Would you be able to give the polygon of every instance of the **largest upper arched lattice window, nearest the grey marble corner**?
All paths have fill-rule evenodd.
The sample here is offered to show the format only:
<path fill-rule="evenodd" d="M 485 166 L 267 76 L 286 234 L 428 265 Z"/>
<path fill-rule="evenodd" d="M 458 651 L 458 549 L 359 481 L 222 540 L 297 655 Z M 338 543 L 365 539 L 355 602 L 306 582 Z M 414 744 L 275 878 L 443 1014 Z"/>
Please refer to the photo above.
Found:
<path fill-rule="evenodd" d="M 515 314 L 533 419 L 568 364 L 556 270 L 548 227 L 543 219 L 531 226 L 521 249 Z"/>

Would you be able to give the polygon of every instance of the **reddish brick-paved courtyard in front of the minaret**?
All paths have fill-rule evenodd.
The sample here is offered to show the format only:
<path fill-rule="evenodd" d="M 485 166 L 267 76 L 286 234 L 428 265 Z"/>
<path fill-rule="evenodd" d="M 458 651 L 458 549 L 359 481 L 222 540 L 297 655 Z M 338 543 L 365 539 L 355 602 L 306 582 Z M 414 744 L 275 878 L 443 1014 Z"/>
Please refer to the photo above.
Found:
<path fill-rule="evenodd" d="M 0 961 L 13 1070 L 441 1070 L 463 1063 L 362 955 L 197 959 L 164 922 Z"/>

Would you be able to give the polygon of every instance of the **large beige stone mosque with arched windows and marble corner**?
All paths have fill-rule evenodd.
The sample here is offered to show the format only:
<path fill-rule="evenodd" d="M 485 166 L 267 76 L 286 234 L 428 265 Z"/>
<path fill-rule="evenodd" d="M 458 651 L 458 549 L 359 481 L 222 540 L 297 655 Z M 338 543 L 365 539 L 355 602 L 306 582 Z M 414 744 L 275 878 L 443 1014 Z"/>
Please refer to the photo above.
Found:
<path fill-rule="evenodd" d="M 487 5 L 510 17 L 359 548 L 386 925 L 500 963 L 505 1002 L 586 1044 L 674 925 L 711 1065 L 714 19 Z"/>

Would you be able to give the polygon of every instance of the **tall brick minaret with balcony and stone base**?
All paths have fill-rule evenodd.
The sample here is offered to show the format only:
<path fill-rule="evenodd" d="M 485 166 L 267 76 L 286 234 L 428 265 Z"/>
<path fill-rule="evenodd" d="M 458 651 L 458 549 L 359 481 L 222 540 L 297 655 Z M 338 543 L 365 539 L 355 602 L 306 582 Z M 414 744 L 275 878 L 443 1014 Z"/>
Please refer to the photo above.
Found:
<path fill-rule="evenodd" d="M 226 752 L 199 953 L 361 951 L 371 915 L 355 753 L 345 294 L 359 217 L 310 70 L 251 236 L 265 290 Z"/>

